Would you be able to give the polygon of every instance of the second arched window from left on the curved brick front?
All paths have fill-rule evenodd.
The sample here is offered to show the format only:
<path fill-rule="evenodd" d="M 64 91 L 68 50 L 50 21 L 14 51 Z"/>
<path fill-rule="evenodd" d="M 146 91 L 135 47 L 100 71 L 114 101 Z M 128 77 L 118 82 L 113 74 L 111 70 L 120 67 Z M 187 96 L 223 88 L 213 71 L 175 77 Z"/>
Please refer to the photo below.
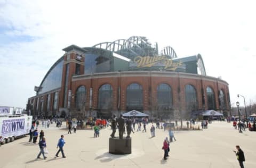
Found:
<path fill-rule="evenodd" d="M 113 89 L 111 85 L 102 85 L 99 89 L 98 108 L 100 110 L 111 109 L 113 107 Z"/>

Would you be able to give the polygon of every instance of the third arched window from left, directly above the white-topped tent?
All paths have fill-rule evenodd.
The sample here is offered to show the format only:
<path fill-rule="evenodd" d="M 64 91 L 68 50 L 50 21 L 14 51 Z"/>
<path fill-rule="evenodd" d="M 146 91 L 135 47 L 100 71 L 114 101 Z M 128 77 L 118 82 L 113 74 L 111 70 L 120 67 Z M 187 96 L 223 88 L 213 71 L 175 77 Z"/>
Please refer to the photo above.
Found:
<path fill-rule="evenodd" d="M 126 89 L 126 109 L 143 110 L 143 91 L 138 83 L 132 83 Z"/>

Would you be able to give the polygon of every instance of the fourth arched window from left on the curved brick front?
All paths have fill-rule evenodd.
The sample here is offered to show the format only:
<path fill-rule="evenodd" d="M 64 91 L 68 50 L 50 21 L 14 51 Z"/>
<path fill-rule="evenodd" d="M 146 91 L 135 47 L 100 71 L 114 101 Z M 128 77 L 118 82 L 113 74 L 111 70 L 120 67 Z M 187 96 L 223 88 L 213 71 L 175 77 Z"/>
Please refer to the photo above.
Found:
<path fill-rule="evenodd" d="M 172 89 L 165 83 L 157 86 L 157 107 L 158 110 L 170 110 L 172 107 Z"/>

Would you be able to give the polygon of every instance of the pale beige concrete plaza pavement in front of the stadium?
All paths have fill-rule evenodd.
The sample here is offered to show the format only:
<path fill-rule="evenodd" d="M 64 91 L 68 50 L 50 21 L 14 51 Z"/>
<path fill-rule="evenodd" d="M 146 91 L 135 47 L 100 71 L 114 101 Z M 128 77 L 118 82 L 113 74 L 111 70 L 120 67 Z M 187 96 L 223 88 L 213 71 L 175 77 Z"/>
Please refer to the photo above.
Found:
<path fill-rule="evenodd" d="M 155 125 L 155 124 L 154 124 Z M 47 159 L 36 159 L 38 145 L 29 143 L 29 137 L 17 139 L 0 147 L 0 167 L 189 167 L 189 168 L 231 168 L 239 167 L 233 152 L 235 145 L 244 150 L 246 168 L 256 167 L 256 132 L 238 133 L 232 123 L 215 121 L 203 131 L 175 131 L 170 144 L 170 157 L 163 161 L 163 140 L 167 131 L 156 130 L 156 137 L 150 138 L 151 124 L 147 132 L 135 132 L 132 137 L 132 154 L 108 154 L 110 128 L 100 131 L 99 138 L 93 138 L 92 130 L 77 130 L 67 134 L 67 130 L 51 125 L 45 131 Z M 41 130 L 41 127 L 39 127 Z M 60 135 L 65 136 L 64 152 L 67 158 L 56 158 L 57 142 Z M 118 131 L 116 132 L 116 136 Z M 42 156 L 41 156 L 42 157 Z"/>

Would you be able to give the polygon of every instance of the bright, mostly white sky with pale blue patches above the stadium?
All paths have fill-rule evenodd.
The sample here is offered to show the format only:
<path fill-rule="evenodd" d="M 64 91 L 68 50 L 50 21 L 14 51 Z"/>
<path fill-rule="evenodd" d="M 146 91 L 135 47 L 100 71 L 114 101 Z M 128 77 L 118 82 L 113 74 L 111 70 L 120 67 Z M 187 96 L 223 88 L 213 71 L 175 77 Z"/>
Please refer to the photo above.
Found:
<path fill-rule="evenodd" d="M 146 36 L 159 51 L 201 54 L 229 83 L 231 106 L 256 103 L 254 1 L 0 0 L 0 106 L 26 107 L 46 72 L 75 44 Z"/>

